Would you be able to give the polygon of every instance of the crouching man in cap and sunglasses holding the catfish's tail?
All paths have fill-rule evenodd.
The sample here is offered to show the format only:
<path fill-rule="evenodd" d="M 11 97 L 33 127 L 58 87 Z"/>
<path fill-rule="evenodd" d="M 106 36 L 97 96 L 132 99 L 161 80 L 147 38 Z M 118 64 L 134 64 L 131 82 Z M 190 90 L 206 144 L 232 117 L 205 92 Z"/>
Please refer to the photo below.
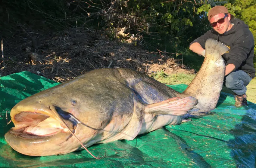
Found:
<path fill-rule="evenodd" d="M 211 8 L 208 20 L 212 29 L 192 41 L 189 49 L 205 56 L 204 44 L 208 38 L 228 46 L 229 51 L 222 55 L 226 62 L 223 85 L 234 92 L 237 107 L 247 105 L 246 86 L 255 77 L 253 35 L 248 25 L 242 20 L 234 19 L 224 6 Z"/>

